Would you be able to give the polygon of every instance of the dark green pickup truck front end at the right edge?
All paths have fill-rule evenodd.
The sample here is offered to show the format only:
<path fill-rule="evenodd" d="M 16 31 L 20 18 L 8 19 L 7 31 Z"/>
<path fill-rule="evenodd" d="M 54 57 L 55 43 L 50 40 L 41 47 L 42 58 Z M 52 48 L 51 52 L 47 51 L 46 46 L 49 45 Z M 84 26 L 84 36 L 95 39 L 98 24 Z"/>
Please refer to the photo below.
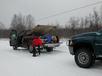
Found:
<path fill-rule="evenodd" d="M 73 36 L 68 40 L 70 54 L 79 67 L 89 68 L 97 59 L 102 59 L 102 30 Z"/>

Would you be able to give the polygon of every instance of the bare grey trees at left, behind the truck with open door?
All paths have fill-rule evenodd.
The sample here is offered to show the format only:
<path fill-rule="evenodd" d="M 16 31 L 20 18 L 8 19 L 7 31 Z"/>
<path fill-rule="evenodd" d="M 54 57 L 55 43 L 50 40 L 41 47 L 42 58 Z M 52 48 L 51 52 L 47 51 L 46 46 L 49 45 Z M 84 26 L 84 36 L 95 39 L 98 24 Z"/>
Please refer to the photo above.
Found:
<path fill-rule="evenodd" d="M 22 14 L 15 14 L 12 18 L 10 28 L 6 29 L 5 25 L 0 22 L 0 38 L 8 38 L 12 29 L 21 32 L 31 30 L 34 26 L 35 22 L 32 15 L 23 16 Z"/>

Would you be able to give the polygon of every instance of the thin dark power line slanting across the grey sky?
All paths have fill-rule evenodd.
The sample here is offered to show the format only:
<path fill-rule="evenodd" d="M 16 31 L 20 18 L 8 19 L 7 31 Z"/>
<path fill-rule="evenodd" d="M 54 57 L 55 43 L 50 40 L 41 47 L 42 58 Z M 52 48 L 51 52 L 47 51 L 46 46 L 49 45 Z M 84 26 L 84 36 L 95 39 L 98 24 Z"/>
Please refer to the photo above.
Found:
<path fill-rule="evenodd" d="M 62 14 L 65 14 L 65 13 L 70 13 L 70 12 L 73 12 L 73 11 L 77 11 L 79 9 L 87 8 L 87 7 L 90 7 L 90 6 L 93 6 L 93 5 L 97 5 L 97 4 L 101 4 L 101 3 L 102 3 L 102 1 L 98 1 L 98 2 L 95 2 L 95 3 L 92 3 L 92 4 L 88 4 L 88 5 L 81 6 L 81 7 L 78 7 L 78 8 L 74 8 L 74 9 L 71 9 L 71 10 L 67 10 L 67 11 L 64 11 L 64 12 L 53 14 L 53 15 L 50 15 L 50 16 L 47 16 L 47 17 L 43 17 L 43 18 L 40 18 L 40 19 L 38 19 L 36 21 L 45 20 L 45 19 L 48 19 L 48 18 L 51 18 L 51 17 L 55 17 L 57 15 L 62 15 Z"/>

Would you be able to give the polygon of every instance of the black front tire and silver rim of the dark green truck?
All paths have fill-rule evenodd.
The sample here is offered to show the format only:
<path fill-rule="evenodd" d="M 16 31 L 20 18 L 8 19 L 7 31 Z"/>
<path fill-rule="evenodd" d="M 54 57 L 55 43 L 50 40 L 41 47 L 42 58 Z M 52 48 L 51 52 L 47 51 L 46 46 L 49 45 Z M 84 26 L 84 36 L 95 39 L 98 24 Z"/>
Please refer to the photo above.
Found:
<path fill-rule="evenodd" d="M 95 59 L 89 49 L 80 48 L 76 50 L 75 62 L 79 67 L 89 68 L 94 64 Z"/>

